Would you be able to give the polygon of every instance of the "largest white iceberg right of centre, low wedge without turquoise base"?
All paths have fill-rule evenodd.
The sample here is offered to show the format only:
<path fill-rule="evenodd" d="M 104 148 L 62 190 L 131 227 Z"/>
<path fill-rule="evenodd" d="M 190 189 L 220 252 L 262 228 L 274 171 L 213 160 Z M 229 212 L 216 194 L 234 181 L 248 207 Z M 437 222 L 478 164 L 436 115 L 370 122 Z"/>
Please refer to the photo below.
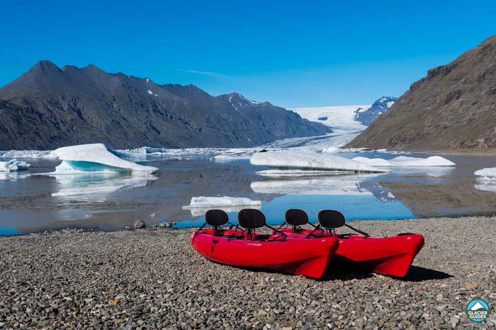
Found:
<path fill-rule="evenodd" d="M 316 153 L 306 149 L 286 149 L 255 153 L 250 160 L 253 165 L 297 168 L 312 170 L 352 171 L 352 172 L 389 172 L 351 159 Z"/>

